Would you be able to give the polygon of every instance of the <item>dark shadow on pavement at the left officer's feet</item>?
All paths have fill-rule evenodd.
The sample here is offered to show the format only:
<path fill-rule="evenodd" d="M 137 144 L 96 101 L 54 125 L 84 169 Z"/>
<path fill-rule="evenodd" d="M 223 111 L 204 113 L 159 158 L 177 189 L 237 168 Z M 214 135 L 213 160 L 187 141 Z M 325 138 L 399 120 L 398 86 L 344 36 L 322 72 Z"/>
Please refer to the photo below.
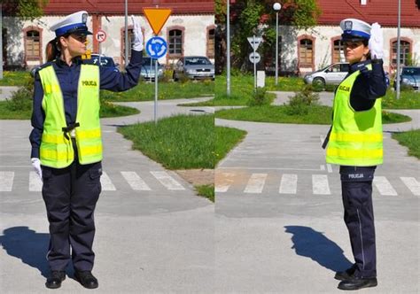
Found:
<path fill-rule="evenodd" d="M 44 277 L 47 277 L 50 271 L 45 258 L 49 243 L 50 234 L 36 233 L 27 227 L 6 228 L 3 236 L 0 236 L 0 244 L 7 254 L 21 259 L 30 267 L 37 268 Z"/>

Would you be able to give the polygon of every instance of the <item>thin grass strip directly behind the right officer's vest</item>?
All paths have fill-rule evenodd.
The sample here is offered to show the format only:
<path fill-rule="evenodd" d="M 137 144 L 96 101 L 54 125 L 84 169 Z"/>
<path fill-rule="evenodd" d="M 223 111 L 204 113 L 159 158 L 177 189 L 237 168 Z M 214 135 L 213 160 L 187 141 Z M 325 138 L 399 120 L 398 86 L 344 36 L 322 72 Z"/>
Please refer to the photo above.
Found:
<path fill-rule="evenodd" d="M 288 106 L 263 105 L 215 112 L 219 119 L 247 120 L 259 122 L 295 123 L 295 124 L 331 124 L 331 107 L 312 105 L 306 114 L 291 114 Z M 383 123 L 395 123 L 411 120 L 408 116 L 383 112 Z"/>

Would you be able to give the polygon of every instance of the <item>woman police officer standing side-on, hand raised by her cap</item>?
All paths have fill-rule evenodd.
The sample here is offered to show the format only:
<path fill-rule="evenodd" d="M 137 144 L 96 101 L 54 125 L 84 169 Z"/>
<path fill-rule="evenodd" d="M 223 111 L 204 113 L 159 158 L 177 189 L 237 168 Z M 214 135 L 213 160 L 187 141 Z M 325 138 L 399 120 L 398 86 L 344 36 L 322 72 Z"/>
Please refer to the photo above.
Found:
<path fill-rule="evenodd" d="M 381 99 L 386 84 L 380 26 L 344 19 L 342 42 L 349 73 L 339 84 L 333 103 L 332 126 L 324 143 L 326 161 L 339 165 L 354 265 L 335 278 L 338 289 L 377 286 L 377 252 L 372 206 L 372 180 L 383 162 Z"/>

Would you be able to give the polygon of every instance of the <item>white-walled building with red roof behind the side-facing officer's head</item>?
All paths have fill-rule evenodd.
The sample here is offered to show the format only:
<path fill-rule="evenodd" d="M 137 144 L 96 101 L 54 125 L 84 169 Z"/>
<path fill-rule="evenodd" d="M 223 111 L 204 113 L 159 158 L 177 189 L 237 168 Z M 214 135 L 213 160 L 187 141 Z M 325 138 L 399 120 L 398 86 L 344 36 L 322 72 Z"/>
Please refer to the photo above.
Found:
<path fill-rule="evenodd" d="M 276 1 L 271 1 L 276 2 Z M 279 1 L 281 2 L 281 1 Z M 293 30 L 280 26 L 280 71 L 305 74 L 333 62 L 343 61 L 339 22 L 346 18 L 378 22 L 384 28 L 385 70 L 397 63 L 398 1 L 317 0 L 322 10 L 318 26 Z M 420 1 L 401 1 L 401 64 L 420 63 Z"/>

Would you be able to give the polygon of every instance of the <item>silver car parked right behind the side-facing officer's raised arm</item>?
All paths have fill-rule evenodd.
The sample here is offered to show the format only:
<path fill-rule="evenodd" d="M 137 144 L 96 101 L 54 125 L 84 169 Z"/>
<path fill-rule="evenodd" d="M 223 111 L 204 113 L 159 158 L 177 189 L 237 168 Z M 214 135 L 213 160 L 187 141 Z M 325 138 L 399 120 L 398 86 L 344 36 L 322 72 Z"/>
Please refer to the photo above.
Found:
<path fill-rule="evenodd" d="M 326 66 L 314 73 L 305 75 L 303 81 L 313 85 L 338 85 L 348 73 L 348 63 L 340 62 Z"/>

